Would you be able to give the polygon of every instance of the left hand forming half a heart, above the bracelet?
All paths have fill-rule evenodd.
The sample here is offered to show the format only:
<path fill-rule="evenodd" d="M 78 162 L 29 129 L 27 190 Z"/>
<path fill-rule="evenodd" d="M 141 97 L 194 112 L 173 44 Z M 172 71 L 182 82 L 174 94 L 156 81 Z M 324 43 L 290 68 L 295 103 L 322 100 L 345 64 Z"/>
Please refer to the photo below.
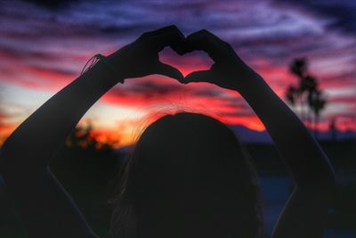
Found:
<path fill-rule="evenodd" d="M 161 74 L 182 82 L 182 73 L 166 63 L 159 62 L 158 53 L 170 46 L 176 53 L 184 53 L 186 39 L 173 26 L 143 33 L 141 37 L 117 52 L 108 60 L 117 67 L 122 78 L 140 78 L 151 74 Z"/>

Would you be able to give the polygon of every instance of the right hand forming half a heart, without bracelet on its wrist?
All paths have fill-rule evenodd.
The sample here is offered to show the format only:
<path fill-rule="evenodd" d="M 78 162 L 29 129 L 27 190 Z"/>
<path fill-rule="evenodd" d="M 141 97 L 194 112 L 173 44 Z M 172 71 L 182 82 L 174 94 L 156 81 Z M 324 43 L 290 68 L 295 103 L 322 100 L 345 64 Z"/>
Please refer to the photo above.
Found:
<path fill-rule="evenodd" d="M 184 83 L 207 82 L 227 89 L 240 90 L 248 82 L 246 78 L 257 73 L 239 58 L 234 49 L 219 37 L 206 29 L 199 30 L 187 37 L 188 52 L 202 50 L 214 61 L 210 70 L 190 73 Z M 255 78 L 255 77 L 254 77 Z"/>

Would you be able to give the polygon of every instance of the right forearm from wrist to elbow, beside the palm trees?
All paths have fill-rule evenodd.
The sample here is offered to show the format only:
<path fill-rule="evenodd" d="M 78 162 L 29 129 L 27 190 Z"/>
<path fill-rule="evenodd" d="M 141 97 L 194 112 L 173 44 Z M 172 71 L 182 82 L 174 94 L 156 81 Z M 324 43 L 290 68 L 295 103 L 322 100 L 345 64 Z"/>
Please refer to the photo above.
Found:
<path fill-rule="evenodd" d="M 320 145 L 263 78 L 250 74 L 239 93 L 263 121 L 299 187 L 332 185 L 334 172 Z"/>

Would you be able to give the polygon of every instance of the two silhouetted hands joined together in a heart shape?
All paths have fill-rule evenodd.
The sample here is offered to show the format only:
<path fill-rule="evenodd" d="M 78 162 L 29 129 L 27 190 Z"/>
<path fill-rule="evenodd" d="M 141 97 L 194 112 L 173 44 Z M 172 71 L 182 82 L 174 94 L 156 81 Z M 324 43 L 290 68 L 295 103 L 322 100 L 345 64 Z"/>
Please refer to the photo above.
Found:
<path fill-rule="evenodd" d="M 206 52 L 214 61 L 210 70 L 195 71 L 185 78 L 173 66 L 159 62 L 158 53 L 170 46 L 182 55 L 195 50 Z M 175 78 L 182 84 L 208 82 L 223 88 L 239 90 L 243 84 L 236 78 L 255 72 L 239 59 L 231 45 L 203 29 L 184 37 L 175 26 L 143 33 L 129 45 L 108 56 L 124 78 L 140 78 L 161 74 Z"/>

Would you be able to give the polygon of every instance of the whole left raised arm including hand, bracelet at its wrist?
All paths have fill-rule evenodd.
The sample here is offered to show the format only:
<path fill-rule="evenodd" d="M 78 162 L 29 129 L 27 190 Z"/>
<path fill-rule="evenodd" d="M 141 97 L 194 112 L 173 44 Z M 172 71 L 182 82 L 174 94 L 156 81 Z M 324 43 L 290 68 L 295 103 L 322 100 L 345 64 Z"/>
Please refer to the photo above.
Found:
<path fill-rule="evenodd" d="M 182 80 L 178 70 L 158 61 L 158 52 L 171 45 L 180 53 L 174 43 L 183 40 L 182 33 L 174 26 L 143 34 L 107 57 L 117 67 L 116 73 L 98 62 L 44 103 L 4 142 L 0 172 L 28 237 L 96 237 L 49 170 L 49 160 L 85 112 L 118 81 L 150 74 Z"/>

